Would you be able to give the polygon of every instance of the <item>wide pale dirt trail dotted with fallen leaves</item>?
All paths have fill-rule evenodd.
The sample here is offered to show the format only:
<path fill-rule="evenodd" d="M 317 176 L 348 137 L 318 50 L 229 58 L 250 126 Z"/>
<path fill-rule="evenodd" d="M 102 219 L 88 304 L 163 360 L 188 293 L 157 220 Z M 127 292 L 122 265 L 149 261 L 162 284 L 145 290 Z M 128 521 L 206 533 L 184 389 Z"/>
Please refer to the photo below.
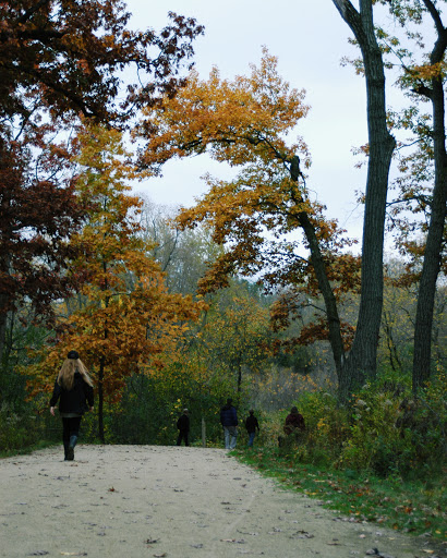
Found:
<path fill-rule="evenodd" d="M 0 556 L 422 558 L 423 539 L 351 523 L 225 450 L 78 446 L 0 460 Z M 377 555 L 376 555 L 377 556 Z"/>

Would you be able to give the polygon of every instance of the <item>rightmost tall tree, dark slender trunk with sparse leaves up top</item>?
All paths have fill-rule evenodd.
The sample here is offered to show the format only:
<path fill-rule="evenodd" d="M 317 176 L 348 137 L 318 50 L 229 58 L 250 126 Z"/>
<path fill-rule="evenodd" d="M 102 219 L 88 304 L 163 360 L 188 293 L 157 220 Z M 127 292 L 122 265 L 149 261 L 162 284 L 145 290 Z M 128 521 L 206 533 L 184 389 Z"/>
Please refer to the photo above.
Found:
<path fill-rule="evenodd" d="M 436 281 L 440 270 L 443 244 L 445 245 L 447 215 L 447 151 L 445 124 L 445 82 L 446 82 L 446 50 L 447 27 L 442 20 L 442 11 L 436 2 L 422 0 L 421 4 L 402 2 L 406 21 L 421 22 L 428 16 L 435 29 L 435 40 L 428 61 L 422 65 L 410 61 L 403 65 L 402 83 L 410 87 L 413 94 L 427 99 L 432 107 L 432 125 L 426 134 L 434 160 L 434 185 L 431 195 L 428 228 L 424 247 L 424 259 L 420 276 L 418 307 L 414 324 L 414 356 L 413 356 L 413 391 L 416 395 L 431 376 L 432 369 L 432 331 L 435 307 Z M 397 5 L 391 5 L 392 14 Z M 415 11 L 419 9 L 420 11 Z M 422 10 L 422 13 L 421 13 Z M 425 13 L 424 13 L 425 12 Z"/>

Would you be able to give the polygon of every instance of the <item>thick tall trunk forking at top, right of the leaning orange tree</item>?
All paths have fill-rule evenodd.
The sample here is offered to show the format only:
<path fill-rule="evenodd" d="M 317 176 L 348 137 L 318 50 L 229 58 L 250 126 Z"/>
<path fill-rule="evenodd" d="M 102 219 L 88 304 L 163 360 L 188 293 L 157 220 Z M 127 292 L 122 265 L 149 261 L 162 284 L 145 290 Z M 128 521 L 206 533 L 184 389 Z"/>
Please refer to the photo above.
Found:
<path fill-rule="evenodd" d="M 386 124 L 385 73 L 374 33 L 372 0 L 360 0 L 360 12 L 349 0 L 333 0 L 359 41 L 367 96 L 367 166 L 362 241 L 362 287 L 359 318 L 352 349 L 343 364 L 339 398 L 350 393 L 376 374 L 377 344 L 383 307 L 383 252 L 388 174 L 395 138 Z"/>

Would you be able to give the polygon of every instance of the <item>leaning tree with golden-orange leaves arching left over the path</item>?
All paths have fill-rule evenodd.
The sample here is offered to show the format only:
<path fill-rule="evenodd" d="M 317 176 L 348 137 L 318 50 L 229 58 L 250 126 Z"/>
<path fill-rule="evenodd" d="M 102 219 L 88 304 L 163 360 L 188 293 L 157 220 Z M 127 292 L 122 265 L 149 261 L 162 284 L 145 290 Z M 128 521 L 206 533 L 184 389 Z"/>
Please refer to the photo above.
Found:
<path fill-rule="evenodd" d="M 346 339 L 337 296 L 357 287 L 358 258 L 342 252 L 350 241 L 341 239 L 336 222 L 325 219 L 324 208 L 310 199 L 298 156 L 307 166 L 304 142 L 288 146 L 285 141 L 307 111 L 303 98 L 303 92 L 291 89 L 278 75 L 277 60 L 267 51 L 250 76 L 232 82 L 220 80 L 217 70 L 206 82 L 192 74 L 174 99 L 147 112 L 153 129 L 150 136 L 144 124 L 140 130 L 147 138 L 141 166 L 157 172 L 171 157 L 208 150 L 217 160 L 242 167 L 231 182 L 208 177 L 209 193 L 179 216 L 182 227 L 205 221 L 214 230 L 214 240 L 228 246 L 201 280 L 201 290 L 226 287 L 235 270 L 263 272 L 275 289 L 319 289 L 326 307 L 326 337 L 340 385 L 345 385 L 349 384 L 342 378 Z M 303 233 L 301 244 L 309 250 L 309 260 L 297 234 L 290 234 L 297 229 Z"/>

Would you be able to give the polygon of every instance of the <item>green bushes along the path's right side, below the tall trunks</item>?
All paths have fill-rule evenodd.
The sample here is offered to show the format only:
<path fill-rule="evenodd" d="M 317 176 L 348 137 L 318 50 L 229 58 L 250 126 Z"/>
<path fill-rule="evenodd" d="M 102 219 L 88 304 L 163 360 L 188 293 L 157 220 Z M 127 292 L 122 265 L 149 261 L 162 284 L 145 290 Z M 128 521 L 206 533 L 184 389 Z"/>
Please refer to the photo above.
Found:
<path fill-rule="evenodd" d="M 444 373 L 432 379 L 418 400 L 401 378 L 389 374 L 364 386 L 349 408 L 339 407 L 325 391 L 303 393 L 295 405 L 304 416 L 305 436 L 299 442 L 288 440 L 278 453 L 302 463 L 380 477 L 425 478 L 445 465 L 446 401 Z M 277 447 L 287 412 L 267 420 L 263 428 L 266 446 Z"/>

